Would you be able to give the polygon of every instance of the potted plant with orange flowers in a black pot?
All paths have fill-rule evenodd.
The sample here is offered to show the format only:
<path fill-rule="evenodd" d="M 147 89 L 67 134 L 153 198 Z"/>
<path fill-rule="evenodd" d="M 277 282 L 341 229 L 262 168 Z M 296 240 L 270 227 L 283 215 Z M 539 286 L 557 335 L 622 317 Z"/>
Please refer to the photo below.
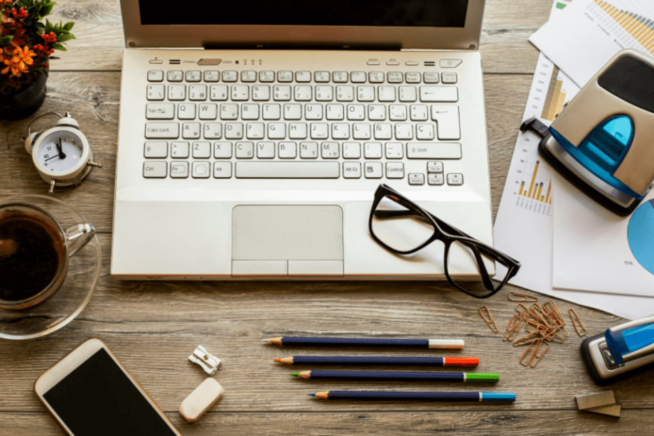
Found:
<path fill-rule="evenodd" d="M 24 118 L 38 110 L 50 55 L 75 39 L 73 22 L 41 22 L 53 6 L 51 0 L 0 0 L 0 118 Z"/>

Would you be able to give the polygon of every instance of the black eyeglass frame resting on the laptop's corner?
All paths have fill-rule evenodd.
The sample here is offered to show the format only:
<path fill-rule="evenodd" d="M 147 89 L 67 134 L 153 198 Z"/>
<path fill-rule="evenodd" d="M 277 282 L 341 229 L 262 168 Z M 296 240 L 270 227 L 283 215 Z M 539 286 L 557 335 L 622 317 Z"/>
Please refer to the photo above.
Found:
<path fill-rule="evenodd" d="M 375 214 L 375 210 L 377 206 L 379 206 L 380 201 L 382 201 L 382 198 L 384 198 L 385 196 L 391 196 L 398 204 L 400 204 L 400 206 L 404 206 L 408 210 L 389 211 L 392 213 L 382 218 L 395 218 L 397 216 L 405 216 L 409 214 L 417 215 L 420 218 L 424 218 L 425 220 L 427 220 L 434 228 L 434 233 L 431 235 L 431 237 L 427 238 L 427 240 L 425 240 L 424 243 L 418 245 L 416 248 L 413 248 L 412 250 L 403 251 L 403 250 L 397 250 L 396 248 L 392 248 L 390 245 L 387 245 L 384 241 L 382 241 L 377 235 L 375 235 L 375 232 L 372 230 L 372 218 L 375 216 L 379 218 L 379 215 Z M 466 294 L 476 298 L 488 298 L 496 294 L 500 289 L 504 287 L 504 285 L 506 285 L 506 283 L 509 280 L 511 280 L 511 278 L 515 277 L 515 275 L 518 274 L 518 270 L 520 270 L 520 266 L 522 266 L 520 262 L 518 262 L 518 260 L 515 260 L 513 259 L 513 257 L 510 257 L 508 255 L 505 255 L 503 252 L 495 250 L 495 248 L 491 247 L 490 245 L 486 245 L 480 240 L 477 240 L 472 236 L 463 233 L 458 228 L 446 223 L 444 220 L 441 220 L 433 213 L 425 210 L 421 206 L 418 206 L 416 203 L 409 200 L 409 198 L 403 196 L 401 193 L 395 191 L 395 189 L 391 188 L 390 186 L 387 186 L 386 184 L 380 184 L 380 186 L 377 187 L 377 191 L 375 191 L 375 198 L 372 201 L 372 208 L 370 208 L 370 219 L 368 220 L 368 230 L 370 231 L 370 235 L 372 236 L 372 239 L 374 239 L 378 244 L 382 245 L 383 248 L 389 250 L 390 252 L 394 252 L 395 254 L 398 255 L 410 255 L 414 252 L 422 250 L 423 248 L 427 247 L 427 245 L 433 243 L 435 240 L 440 240 L 445 245 L 444 267 L 445 267 L 445 277 L 447 281 L 450 283 L 450 285 L 456 287 L 456 289 L 459 289 L 460 291 L 465 292 Z M 475 260 L 477 262 L 477 265 L 479 267 L 479 272 L 481 274 L 481 281 L 483 282 L 484 287 L 486 287 L 486 289 L 491 291 L 490 294 L 488 295 L 473 294 L 467 289 L 457 285 L 456 282 L 450 277 L 448 266 L 447 266 L 448 264 L 447 259 L 449 255 L 449 248 L 454 242 L 462 242 L 462 243 L 470 244 L 470 245 L 466 244 L 466 246 L 468 246 L 468 248 L 470 248 L 471 251 L 474 253 Z M 493 262 L 500 262 L 503 265 L 505 265 L 505 267 L 508 268 L 506 277 L 496 288 L 495 286 L 493 286 L 491 275 L 489 275 L 488 271 L 486 270 L 486 265 L 484 265 L 484 262 L 481 259 L 480 252 L 483 253 L 483 255 L 489 257 L 491 260 L 493 260 Z"/>

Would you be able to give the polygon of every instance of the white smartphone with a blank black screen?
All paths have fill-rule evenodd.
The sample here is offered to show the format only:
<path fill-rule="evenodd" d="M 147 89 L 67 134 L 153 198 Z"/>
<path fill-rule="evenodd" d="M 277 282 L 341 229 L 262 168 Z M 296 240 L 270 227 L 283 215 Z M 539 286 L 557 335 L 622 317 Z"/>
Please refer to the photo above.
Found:
<path fill-rule="evenodd" d="M 100 339 L 68 353 L 34 390 L 69 435 L 181 436 Z"/>

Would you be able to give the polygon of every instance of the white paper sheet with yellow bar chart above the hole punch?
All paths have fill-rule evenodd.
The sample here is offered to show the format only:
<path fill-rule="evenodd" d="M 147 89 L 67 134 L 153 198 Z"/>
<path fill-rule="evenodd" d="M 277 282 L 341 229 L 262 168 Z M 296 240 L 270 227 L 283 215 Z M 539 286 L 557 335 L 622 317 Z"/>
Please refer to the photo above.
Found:
<path fill-rule="evenodd" d="M 646 18 L 630 18 L 630 14 L 654 15 L 652 3 L 574 0 L 562 14 L 552 14 L 529 41 L 583 87 L 623 48 L 654 54 L 654 29 Z"/>

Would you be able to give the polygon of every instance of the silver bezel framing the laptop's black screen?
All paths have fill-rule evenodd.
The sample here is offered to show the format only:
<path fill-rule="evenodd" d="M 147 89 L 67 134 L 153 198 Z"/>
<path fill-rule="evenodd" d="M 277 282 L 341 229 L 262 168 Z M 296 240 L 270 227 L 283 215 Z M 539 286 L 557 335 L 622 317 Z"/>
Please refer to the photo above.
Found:
<path fill-rule="evenodd" d="M 120 0 L 128 48 L 476 50 L 486 0 L 468 0 L 463 28 L 141 25 L 139 0 Z"/>

